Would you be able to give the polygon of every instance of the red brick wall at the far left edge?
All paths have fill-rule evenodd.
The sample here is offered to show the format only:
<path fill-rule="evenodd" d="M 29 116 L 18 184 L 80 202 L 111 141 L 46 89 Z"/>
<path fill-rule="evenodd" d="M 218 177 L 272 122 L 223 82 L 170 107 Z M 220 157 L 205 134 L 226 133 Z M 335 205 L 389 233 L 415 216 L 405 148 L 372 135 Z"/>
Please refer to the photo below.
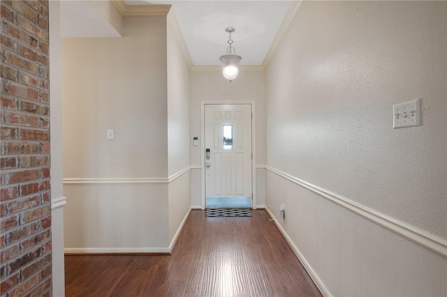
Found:
<path fill-rule="evenodd" d="M 48 6 L 0 6 L 0 296 L 50 296 Z"/>

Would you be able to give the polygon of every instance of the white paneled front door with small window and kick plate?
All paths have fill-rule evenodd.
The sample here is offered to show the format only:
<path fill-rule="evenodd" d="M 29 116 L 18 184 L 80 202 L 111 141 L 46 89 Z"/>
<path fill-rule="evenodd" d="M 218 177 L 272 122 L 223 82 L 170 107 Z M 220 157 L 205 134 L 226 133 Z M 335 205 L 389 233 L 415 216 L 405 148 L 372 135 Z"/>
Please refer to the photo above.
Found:
<path fill-rule="evenodd" d="M 205 105 L 207 207 L 251 207 L 251 105 Z"/>

